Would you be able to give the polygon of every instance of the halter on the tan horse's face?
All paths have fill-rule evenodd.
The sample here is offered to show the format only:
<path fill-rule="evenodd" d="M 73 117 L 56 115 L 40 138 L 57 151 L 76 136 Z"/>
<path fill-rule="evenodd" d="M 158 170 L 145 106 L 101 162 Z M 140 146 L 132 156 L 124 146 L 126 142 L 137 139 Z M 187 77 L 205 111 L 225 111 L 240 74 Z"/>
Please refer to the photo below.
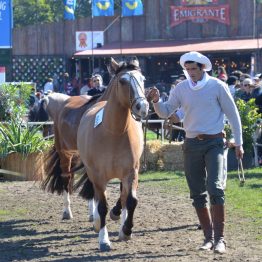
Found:
<path fill-rule="evenodd" d="M 138 73 L 137 70 L 133 70 L 133 71 Z M 141 102 L 146 102 L 147 103 L 147 100 L 146 100 L 145 96 L 143 96 L 144 89 L 143 89 L 143 86 L 142 86 L 142 82 L 144 81 L 144 78 L 139 81 L 138 77 L 136 76 L 136 73 L 134 73 L 133 71 L 124 73 L 122 75 L 122 78 L 125 78 L 124 77 L 125 74 L 128 75 L 129 76 L 128 83 L 129 83 L 130 87 L 132 88 L 134 93 L 136 93 L 136 90 L 137 90 L 138 96 L 132 97 L 130 89 L 129 89 L 129 102 L 130 102 L 130 109 L 131 109 L 132 117 L 136 121 L 141 121 L 142 117 L 141 117 L 141 115 L 136 113 L 136 110 L 139 111 L 141 109 Z M 143 75 L 140 74 L 140 77 L 142 78 Z M 149 108 L 149 105 L 147 103 L 147 105 L 146 105 L 147 113 L 148 113 L 148 108 Z"/>

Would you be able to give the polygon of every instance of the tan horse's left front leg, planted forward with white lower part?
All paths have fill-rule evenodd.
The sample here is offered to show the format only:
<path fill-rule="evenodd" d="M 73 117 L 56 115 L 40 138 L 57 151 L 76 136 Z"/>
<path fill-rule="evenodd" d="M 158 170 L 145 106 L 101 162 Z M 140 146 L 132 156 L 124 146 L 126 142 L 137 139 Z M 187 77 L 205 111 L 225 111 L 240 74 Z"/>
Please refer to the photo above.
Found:
<path fill-rule="evenodd" d="M 99 249 L 104 252 L 111 250 L 111 242 L 106 227 L 108 204 L 105 191 L 99 192 L 98 189 L 95 189 L 95 192 L 95 199 L 98 199 L 98 201 L 96 201 L 97 205 L 94 213 L 94 230 L 99 232 Z"/>

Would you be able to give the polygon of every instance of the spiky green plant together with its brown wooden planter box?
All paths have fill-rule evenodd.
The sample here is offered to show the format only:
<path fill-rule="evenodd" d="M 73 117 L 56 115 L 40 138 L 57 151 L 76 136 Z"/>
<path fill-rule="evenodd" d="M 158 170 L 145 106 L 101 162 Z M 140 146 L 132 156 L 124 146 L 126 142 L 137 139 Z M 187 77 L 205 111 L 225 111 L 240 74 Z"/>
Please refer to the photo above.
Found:
<path fill-rule="evenodd" d="M 44 140 L 40 128 L 32 128 L 14 120 L 0 123 L 2 169 L 20 173 L 25 180 L 43 178 L 44 152 L 52 142 Z"/>

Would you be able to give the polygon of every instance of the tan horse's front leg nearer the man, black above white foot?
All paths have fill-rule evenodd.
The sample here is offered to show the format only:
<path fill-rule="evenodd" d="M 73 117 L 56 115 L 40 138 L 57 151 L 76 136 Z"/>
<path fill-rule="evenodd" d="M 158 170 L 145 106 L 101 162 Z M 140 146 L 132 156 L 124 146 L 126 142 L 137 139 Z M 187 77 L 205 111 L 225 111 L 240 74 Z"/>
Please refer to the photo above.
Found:
<path fill-rule="evenodd" d="M 129 179 L 127 179 L 130 181 Z M 137 197 L 136 197 L 136 189 L 138 185 L 138 173 L 135 174 L 132 182 L 127 182 L 128 191 L 127 197 L 125 197 L 125 189 L 123 188 L 123 200 L 126 198 L 125 205 L 123 204 L 122 214 L 121 214 L 121 226 L 119 230 L 119 240 L 130 240 L 132 237 L 132 228 L 133 224 L 133 217 L 135 208 L 137 206 Z M 124 185 L 123 185 L 124 186 Z"/>

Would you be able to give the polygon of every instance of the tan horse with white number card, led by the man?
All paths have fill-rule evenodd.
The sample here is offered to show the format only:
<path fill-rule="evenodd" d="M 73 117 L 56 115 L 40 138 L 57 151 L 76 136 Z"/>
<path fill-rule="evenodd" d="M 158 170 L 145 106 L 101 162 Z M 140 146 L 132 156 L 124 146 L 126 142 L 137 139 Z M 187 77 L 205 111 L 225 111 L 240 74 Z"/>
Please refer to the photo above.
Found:
<path fill-rule="evenodd" d="M 140 157 L 143 151 L 141 122 L 148 114 L 144 77 L 137 60 L 118 64 L 112 59 L 108 97 L 89 108 L 77 133 L 79 155 L 87 171 L 89 198 L 95 199 L 94 228 L 99 232 L 101 251 L 110 250 L 106 228 L 106 186 L 118 178 L 121 190 L 120 240 L 131 238 Z"/>

